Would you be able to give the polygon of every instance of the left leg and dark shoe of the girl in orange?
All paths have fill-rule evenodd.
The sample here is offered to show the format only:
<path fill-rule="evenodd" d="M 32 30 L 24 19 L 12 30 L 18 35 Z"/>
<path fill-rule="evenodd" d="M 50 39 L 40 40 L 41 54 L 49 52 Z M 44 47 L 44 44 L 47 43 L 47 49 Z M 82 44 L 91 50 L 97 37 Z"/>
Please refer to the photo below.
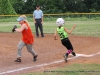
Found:
<path fill-rule="evenodd" d="M 22 51 L 22 48 L 25 46 L 25 43 L 21 40 L 17 46 L 18 48 L 18 53 L 17 53 L 17 59 L 15 60 L 15 62 L 21 62 L 21 51 Z"/>

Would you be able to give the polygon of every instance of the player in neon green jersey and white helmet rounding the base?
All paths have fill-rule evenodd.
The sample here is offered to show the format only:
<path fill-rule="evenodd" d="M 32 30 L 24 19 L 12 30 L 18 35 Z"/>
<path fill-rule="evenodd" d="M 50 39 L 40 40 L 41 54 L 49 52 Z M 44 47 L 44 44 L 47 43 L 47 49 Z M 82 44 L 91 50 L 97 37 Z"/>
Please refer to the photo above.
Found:
<path fill-rule="evenodd" d="M 57 40 L 56 36 L 57 36 L 57 33 L 58 33 L 59 36 L 60 36 L 62 44 L 68 49 L 67 53 L 64 54 L 65 61 L 67 61 L 68 55 L 70 53 L 72 53 L 73 56 L 76 56 L 75 52 L 73 52 L 73 46 L 72 46 L 72 44 L 71 44 L 71 42 L 68 38 L 68 34 L 72 33 L 72 31 L 74 30 L 76 25 L 73 25 L 71 30 L 68 30 L 67 28 L 63 27 L 63 25 L 65 23 L 63 18 L 58 18 L 56 23 L 57 23 L 58 27 L 55 30 L 54 40 Z"/>

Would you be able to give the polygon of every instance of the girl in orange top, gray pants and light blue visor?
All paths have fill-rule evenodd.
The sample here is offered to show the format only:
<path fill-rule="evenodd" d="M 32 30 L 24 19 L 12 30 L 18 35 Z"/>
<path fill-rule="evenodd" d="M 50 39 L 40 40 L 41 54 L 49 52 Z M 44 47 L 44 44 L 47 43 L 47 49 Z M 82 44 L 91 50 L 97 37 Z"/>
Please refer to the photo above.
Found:
<path fill-rule="evenodd" d="M 17 21 L 19 22 L 19 24 L 21 24 L 21 27 L 17 28 L 15 26 L 15 28 L 12 30 L 12 32 L 14 32 L 14 31 L 21 32 L 22 39 L 18 44 L 18 56 L 17 56 L 17 59 L 15 60 L 15 62 L 21 62 L 21 51 L 24 46 L 26 46 L 27 50 L 33 55 L 33 61 L 36 61 L 37 54 L 34 51 L 34 49 L 32 48 L 33 43 L 34 43 L 34 36 L 32 34 L 31 28 L 26 20 L 26 16 L 21 15 L 17 19 Z"/>

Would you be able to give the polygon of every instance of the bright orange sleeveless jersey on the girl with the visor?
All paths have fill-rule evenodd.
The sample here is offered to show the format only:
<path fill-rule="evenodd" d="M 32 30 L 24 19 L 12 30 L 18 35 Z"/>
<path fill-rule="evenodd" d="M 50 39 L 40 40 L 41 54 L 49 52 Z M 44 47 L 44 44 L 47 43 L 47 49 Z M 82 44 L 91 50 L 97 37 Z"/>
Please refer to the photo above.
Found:
<path fill-rule="evenodd" d="M 28 29 L 24 29 L 22 31 L 22 41 L 26 44 L 33 44 L 34 43 L 34 36 L 32 34 L 31 28 L 28 25 L 28 23 L 25 23 L 25 25 L 28 27 Z"/>

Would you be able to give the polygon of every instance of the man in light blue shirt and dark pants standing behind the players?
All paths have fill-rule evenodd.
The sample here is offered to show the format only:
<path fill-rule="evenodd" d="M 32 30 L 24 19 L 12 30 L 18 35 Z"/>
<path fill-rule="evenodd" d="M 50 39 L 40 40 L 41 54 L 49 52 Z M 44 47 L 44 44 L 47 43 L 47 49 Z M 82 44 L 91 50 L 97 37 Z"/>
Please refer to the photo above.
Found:
<path fill-rule="evenodd" d="M 33 20 L 35 23 L 35 30 L 36 30 L 36 37 L 39 37 L 39 31 L 38 28 L 40 29 L 41 32 L 41 37 L 44 37 L 43 34 L 43 12 L 40 10 L 40 6 L 36 6 L 36 10 L 33 12 Z"/>

